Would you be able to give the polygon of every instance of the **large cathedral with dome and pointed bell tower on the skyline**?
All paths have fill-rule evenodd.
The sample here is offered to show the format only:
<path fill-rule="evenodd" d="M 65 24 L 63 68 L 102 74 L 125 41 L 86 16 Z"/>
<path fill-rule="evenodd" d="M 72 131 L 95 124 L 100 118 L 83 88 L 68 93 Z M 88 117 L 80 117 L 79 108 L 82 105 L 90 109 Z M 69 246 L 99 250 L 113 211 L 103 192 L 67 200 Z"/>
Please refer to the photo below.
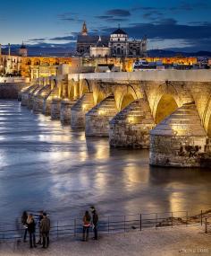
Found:
<path fill-rule="evenodd" d="M 77 54 L 81 57 L 147 57 L 147 39 L 129 40 L 121 28 L 110 36 L 89 35 L 84 22 L 77 40 Z"/>

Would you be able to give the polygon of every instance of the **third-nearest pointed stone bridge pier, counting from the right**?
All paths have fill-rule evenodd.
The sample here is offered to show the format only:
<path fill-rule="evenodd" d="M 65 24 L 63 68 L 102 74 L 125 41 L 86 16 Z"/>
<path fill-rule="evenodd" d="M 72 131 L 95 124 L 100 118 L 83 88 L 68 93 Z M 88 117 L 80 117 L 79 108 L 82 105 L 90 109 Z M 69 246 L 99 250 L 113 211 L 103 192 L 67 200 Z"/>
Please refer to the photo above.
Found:
<path fill-rule="evenodd" d="M 108 137 L 109 121 L 114 118 L 117 112 L 114 95 L 110 95 L 98 103 L 86 114 L 86 136 Z"/>

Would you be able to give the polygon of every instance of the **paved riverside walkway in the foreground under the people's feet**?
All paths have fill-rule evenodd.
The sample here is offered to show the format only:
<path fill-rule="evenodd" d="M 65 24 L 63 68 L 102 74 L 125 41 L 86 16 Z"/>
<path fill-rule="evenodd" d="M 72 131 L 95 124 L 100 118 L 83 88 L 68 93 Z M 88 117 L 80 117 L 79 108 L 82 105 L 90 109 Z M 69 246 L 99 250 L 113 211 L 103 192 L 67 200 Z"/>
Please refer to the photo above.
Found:
<path fill-rule="evenodd" d="M 134 231 L 126 234 L 105 234 L 98 241 L 80 242 L 65 238 L 52 241 L 48 249 L 29 249 L 28 243 L 0 243 L 0 255 L 51 256 L 174 256 L 211 255 L 211 234 L 201 226 L 168 227 Z"/>

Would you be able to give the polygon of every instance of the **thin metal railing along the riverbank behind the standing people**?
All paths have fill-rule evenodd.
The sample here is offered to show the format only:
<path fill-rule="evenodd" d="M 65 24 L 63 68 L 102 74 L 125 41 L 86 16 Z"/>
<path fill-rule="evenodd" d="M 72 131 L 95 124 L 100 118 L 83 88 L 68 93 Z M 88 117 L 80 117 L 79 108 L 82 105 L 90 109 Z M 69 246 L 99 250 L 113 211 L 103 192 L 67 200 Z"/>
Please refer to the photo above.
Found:
<path fill-rule="evenodd" d="M 205 223 L 208 232 L 208 220 L 201 211 L 198 216 L 190 216 L 188 211 L 176 211 L 165 213 L 149 213 L 136 214 L 125 216 L 100 216 L 98 223 L 98 232 L 100 234 L 129 232 L 132 230 L 141 231 L 144 228 L 160 228 L 173 227 L 175 225 L 203 225 Z M 0 224 L 0 241 L 5 240 L 21 240 L 23 238 L 25 229 L 21 222 L 18 221 L 14 225 Z M 72 218 L 68 221 L 53 221 L 50 236 L 51 238 L 59 238 L 64 236 L 73 237 L 81 236 L 82 234 L 82 220 L 79 218 Z M 37 225 L 38 235 L 38 225 Z"/>

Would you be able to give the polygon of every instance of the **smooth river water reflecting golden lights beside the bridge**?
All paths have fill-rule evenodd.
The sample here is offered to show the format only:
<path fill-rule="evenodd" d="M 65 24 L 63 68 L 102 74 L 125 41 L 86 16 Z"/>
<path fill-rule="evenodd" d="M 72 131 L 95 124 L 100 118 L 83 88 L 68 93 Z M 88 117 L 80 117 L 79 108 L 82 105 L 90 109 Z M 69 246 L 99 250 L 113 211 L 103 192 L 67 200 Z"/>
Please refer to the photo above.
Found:
<path fill-rule="evenodd" d="M 211 169 L 156 168 L 148 150 L 110 149 L 19 102 L 0 102 L 0 216 L 47 210 L 55 219 L 211 208 Z"/>

